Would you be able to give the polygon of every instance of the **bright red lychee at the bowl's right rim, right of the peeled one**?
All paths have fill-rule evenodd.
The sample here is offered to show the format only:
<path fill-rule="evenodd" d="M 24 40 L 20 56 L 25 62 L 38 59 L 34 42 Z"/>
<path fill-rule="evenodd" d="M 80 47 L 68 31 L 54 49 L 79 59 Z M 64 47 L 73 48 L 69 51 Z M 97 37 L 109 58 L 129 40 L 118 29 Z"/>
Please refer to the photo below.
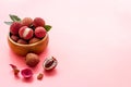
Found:
<path fill-rule="evenodd" d="M 46 34 L 47 34 L 47 32 L 46 32 L 46 29 L 44 27 L 41 27 L 41 26 L 36 27 L 36 29 L 35 29 L 35 36 L 37 38 L 43 38 L 43 37 L 46 36 Z"/>

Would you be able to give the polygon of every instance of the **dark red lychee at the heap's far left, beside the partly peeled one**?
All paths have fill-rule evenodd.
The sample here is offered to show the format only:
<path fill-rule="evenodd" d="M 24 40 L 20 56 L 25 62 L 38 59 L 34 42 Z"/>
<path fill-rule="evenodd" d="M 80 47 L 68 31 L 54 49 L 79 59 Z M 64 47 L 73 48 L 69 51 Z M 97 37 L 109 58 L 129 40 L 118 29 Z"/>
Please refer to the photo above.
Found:
<path fill-rule="evenodd" d="M 19 30 L 22 27 L 22 24 L 19 22 L 14 22 L 11 26 L 10 26 L 10 33 L 13 35 L 19 35 Z"/>

